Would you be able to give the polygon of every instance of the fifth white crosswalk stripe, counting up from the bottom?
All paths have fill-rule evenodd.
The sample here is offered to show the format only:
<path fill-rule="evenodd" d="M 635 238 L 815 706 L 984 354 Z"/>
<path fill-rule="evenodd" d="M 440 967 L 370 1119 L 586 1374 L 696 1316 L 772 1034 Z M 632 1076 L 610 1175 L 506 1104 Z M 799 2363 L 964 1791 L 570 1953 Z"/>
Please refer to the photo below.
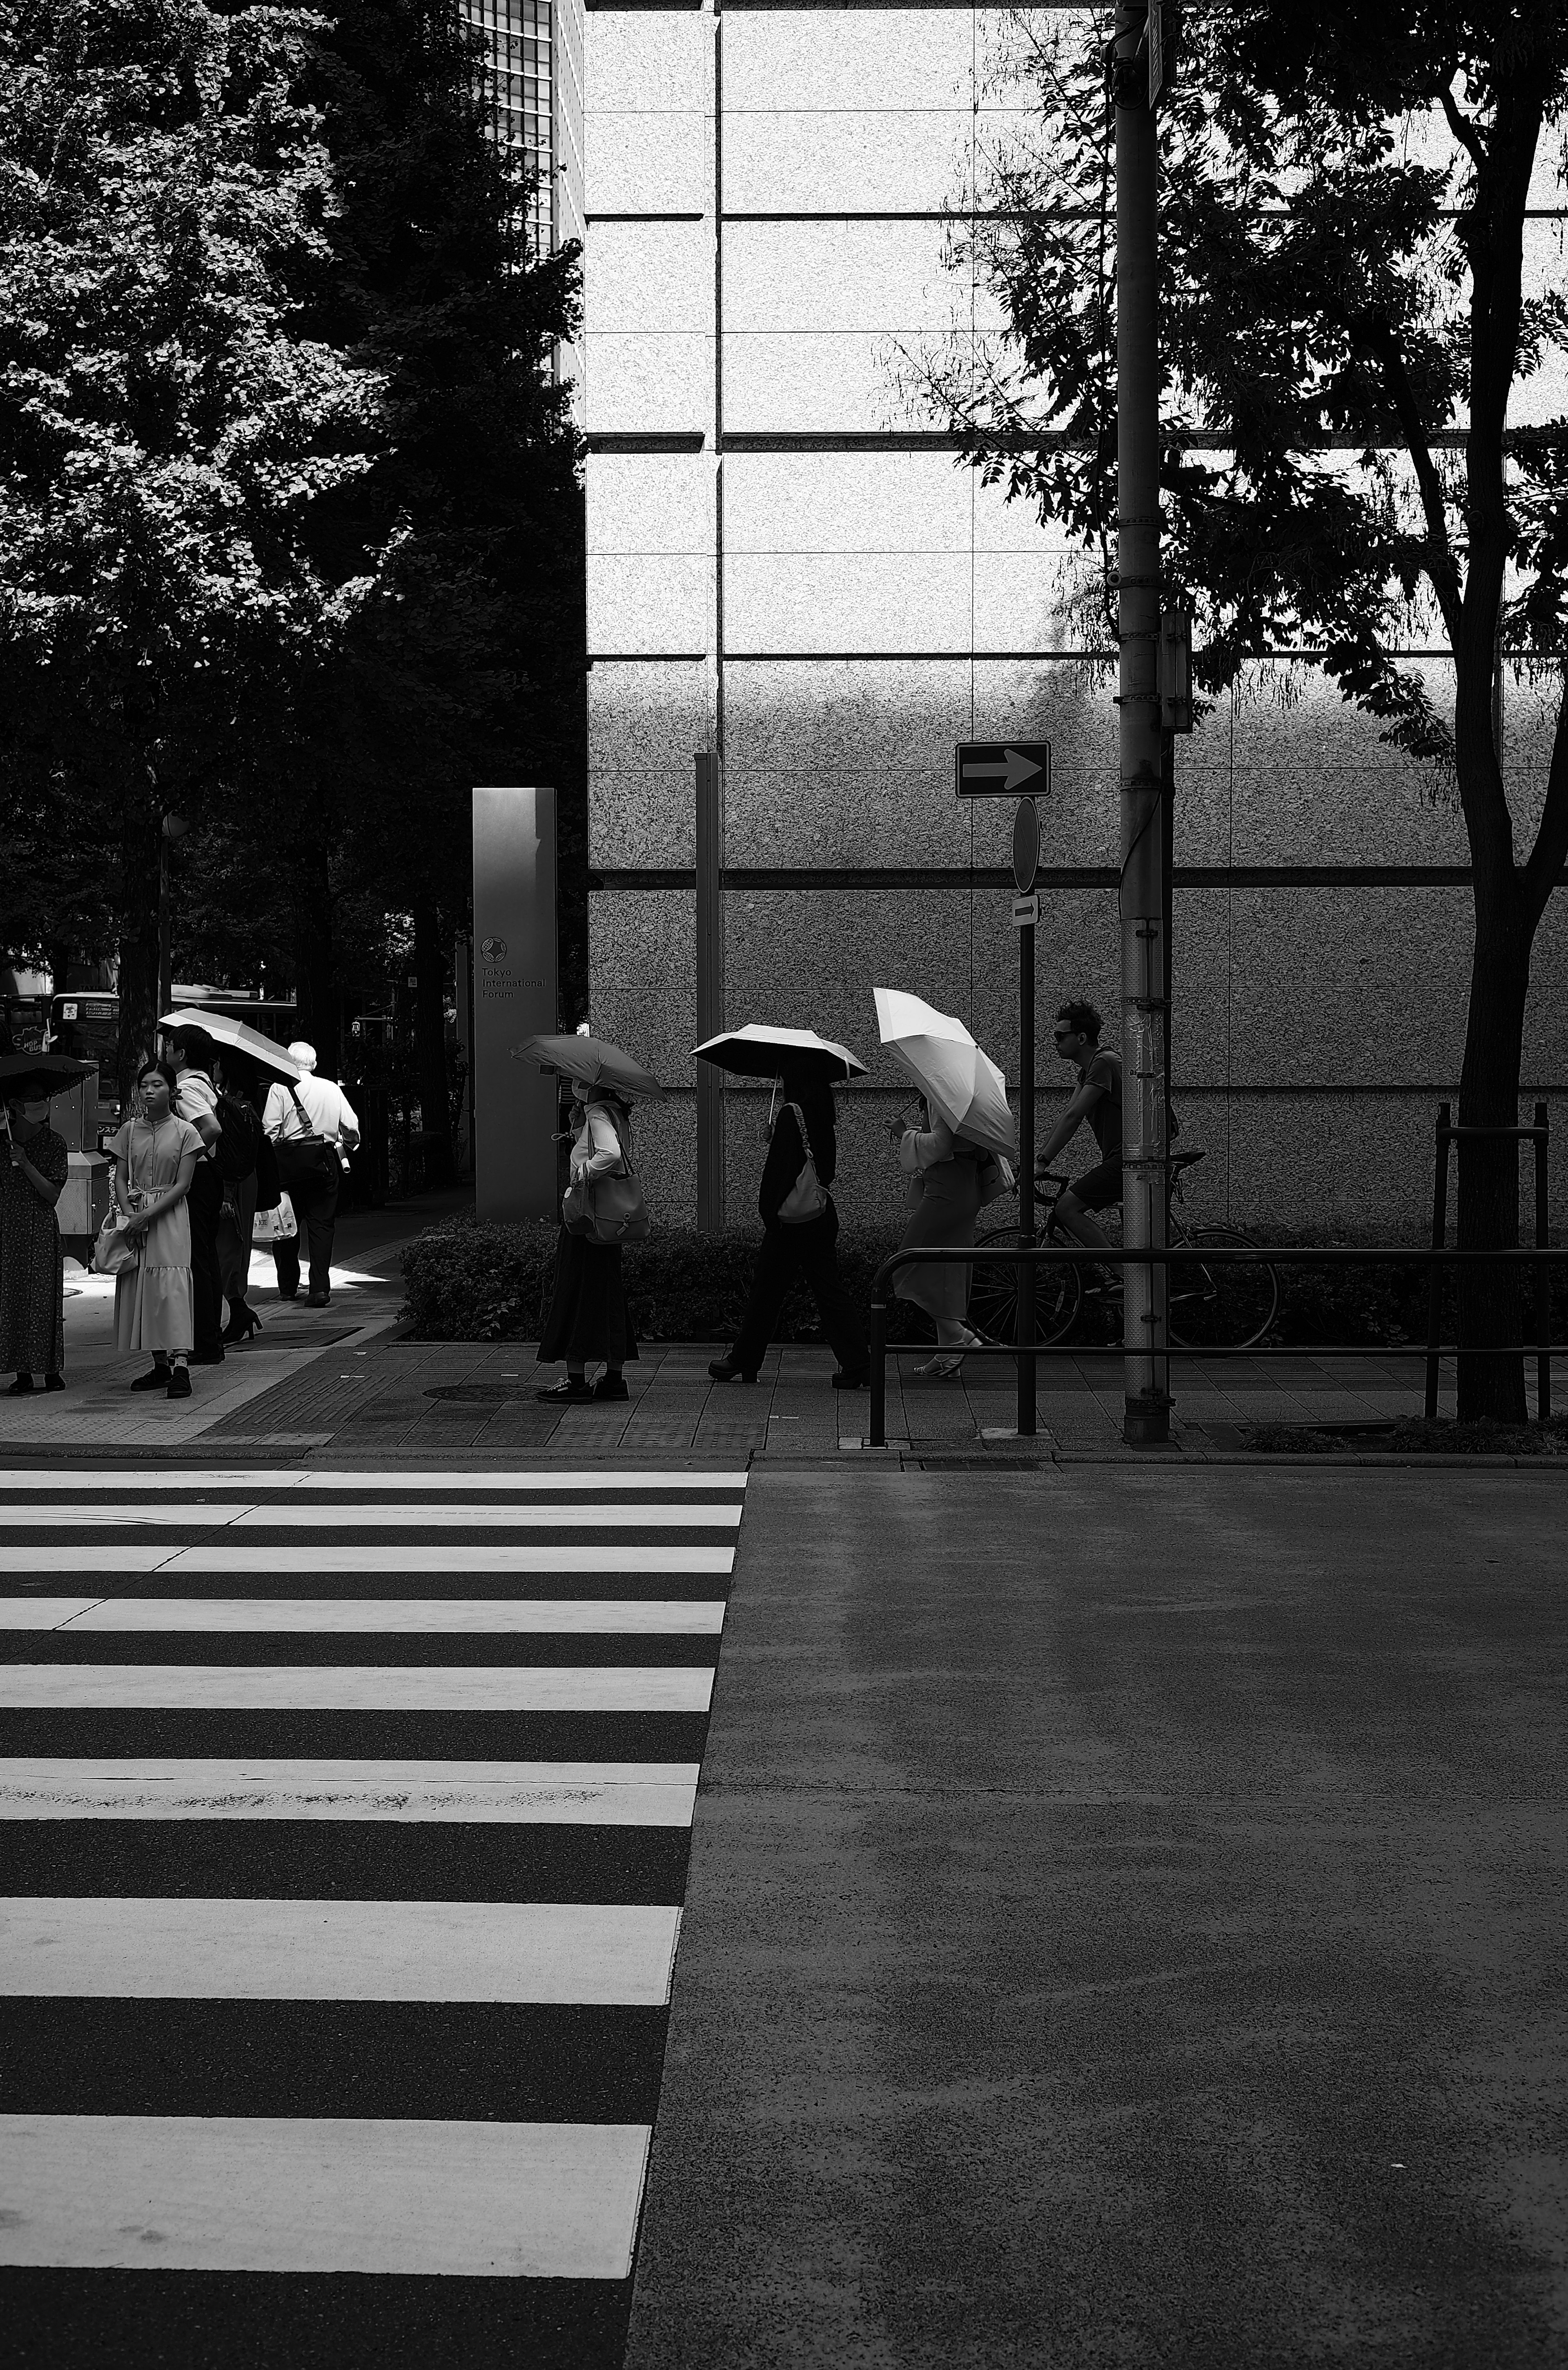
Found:
<path fill-rule="evenodd" d="M 725 1602 L 687 1597 L 0 1597 L 0 1631 L 310 1631 L 393 1638 L 718 1638 Z"/>

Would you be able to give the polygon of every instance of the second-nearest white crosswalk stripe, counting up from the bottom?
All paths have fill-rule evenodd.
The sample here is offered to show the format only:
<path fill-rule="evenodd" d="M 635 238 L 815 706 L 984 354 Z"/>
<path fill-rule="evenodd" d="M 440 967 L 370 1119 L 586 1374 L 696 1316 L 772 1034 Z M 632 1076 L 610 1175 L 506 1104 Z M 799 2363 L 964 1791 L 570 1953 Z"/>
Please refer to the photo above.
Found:
<path fill-rule="evenodd" d="M 571 1901 L 0 1901 L 0 1993 L 663 2007 L 677 1908 Z"/>

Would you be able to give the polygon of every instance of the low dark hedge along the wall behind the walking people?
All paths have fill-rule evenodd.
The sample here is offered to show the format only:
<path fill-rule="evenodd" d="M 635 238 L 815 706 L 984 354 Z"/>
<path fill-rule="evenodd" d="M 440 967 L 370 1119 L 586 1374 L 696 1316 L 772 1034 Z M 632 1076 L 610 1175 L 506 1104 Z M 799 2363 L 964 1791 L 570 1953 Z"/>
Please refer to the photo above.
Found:
<path fill-rule="evenodd" d="M 1303 1242 L 1322 1237 L 1296 1237 Z M 850 1299 L 865 1311 L 872 1275 L 898 1249 L 895 1225 L 843 1225 L 838 1268 Z M 550 1308 L 557 1230 L 547 1221 L 493 1225 L 471 1216 L 429 1228 L 403 1254 L 405 1315 L 422 1341 L 538 1341 Z M 758 1228 L 699 1235 L 692 1225 L 661 1225 L 649 1242 L 628 1247 L 625 1289 L 632 1322 L 644 1341 L 734 1339 L 751 1287 Z M 1322 1344 L 1419 1344 L 1426 1339 L 1426 1273 L 1421 1268 L 1279 1268 L 1279 1315 L 1272 1341 L 1312 1349 Z M 1568 1275 L 1551 1280 L 1554 1337 L 1566 1339 Z M 1525 1337 L 1532 1308 L 1525 1304 Z M 1452 1334 L 1452 1270 L 1445 1287 L 1445 1339 Z M 779 1341 L 820 1341 L 817 1311 L 808 1292 L 784 1304 Z M 933 1327 L 910 1301 L 893 1301 L 888 1339 L 931 1341 Z M 1118 1339 L 1116 1320 L 1085 1311 L 1078 1339 Z"/>

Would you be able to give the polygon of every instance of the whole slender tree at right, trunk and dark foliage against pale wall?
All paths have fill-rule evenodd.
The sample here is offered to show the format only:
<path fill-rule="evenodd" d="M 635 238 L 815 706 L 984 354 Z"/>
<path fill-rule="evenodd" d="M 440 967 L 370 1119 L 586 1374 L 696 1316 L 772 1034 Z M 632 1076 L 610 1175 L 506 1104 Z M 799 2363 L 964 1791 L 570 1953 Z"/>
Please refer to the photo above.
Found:
<path fill-rule="evenodd" d="M 1002 220 L 969 249 L 1009 360 L 933 384 L 992 481 L 1106 550 L 1111 21 L 1030 24 L 1040 137 L 997 168 Z M 1184 12 L 1161 107 L 1163 571 L 1199 611 L 1208 690 L 1319 647 L 1383 739 L 1457 784 L 1471 1128 L 1518 1121 L 1530 953 L 1568 856 L 1568 424 L 1540 398 L 1568 301 L 1525 277 L 1525 213 L 1561 173 L 1566 116 L 1568 17 L 1535 0 L 1215 0 Z M 1400 659 L 1424 619 L 1452 652 L 1452 718 Z M 1504 659 L 1559 702 L 1532 837 L 1492 735 Z M 1516 1147 L 1461 1138 L 1459 1244 L 1516 1240 Z M 1473 1346 L 1518 1344 L 1516 1280 L 1466 1270 L 1461 1322 Z M 1459 1413 L 1523 1417 L 1521 1360 L 1461 1360 Z"/>

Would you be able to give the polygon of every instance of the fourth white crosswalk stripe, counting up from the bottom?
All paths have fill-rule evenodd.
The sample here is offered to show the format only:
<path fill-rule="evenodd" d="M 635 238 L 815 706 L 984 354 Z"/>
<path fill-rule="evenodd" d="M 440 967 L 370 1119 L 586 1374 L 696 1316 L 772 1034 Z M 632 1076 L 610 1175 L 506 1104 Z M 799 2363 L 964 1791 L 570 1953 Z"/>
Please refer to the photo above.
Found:
<path fill-rule="evenodd" d="M 706 1711 L 711 1668 L 9 1661 L 5 1711 Z"/>

